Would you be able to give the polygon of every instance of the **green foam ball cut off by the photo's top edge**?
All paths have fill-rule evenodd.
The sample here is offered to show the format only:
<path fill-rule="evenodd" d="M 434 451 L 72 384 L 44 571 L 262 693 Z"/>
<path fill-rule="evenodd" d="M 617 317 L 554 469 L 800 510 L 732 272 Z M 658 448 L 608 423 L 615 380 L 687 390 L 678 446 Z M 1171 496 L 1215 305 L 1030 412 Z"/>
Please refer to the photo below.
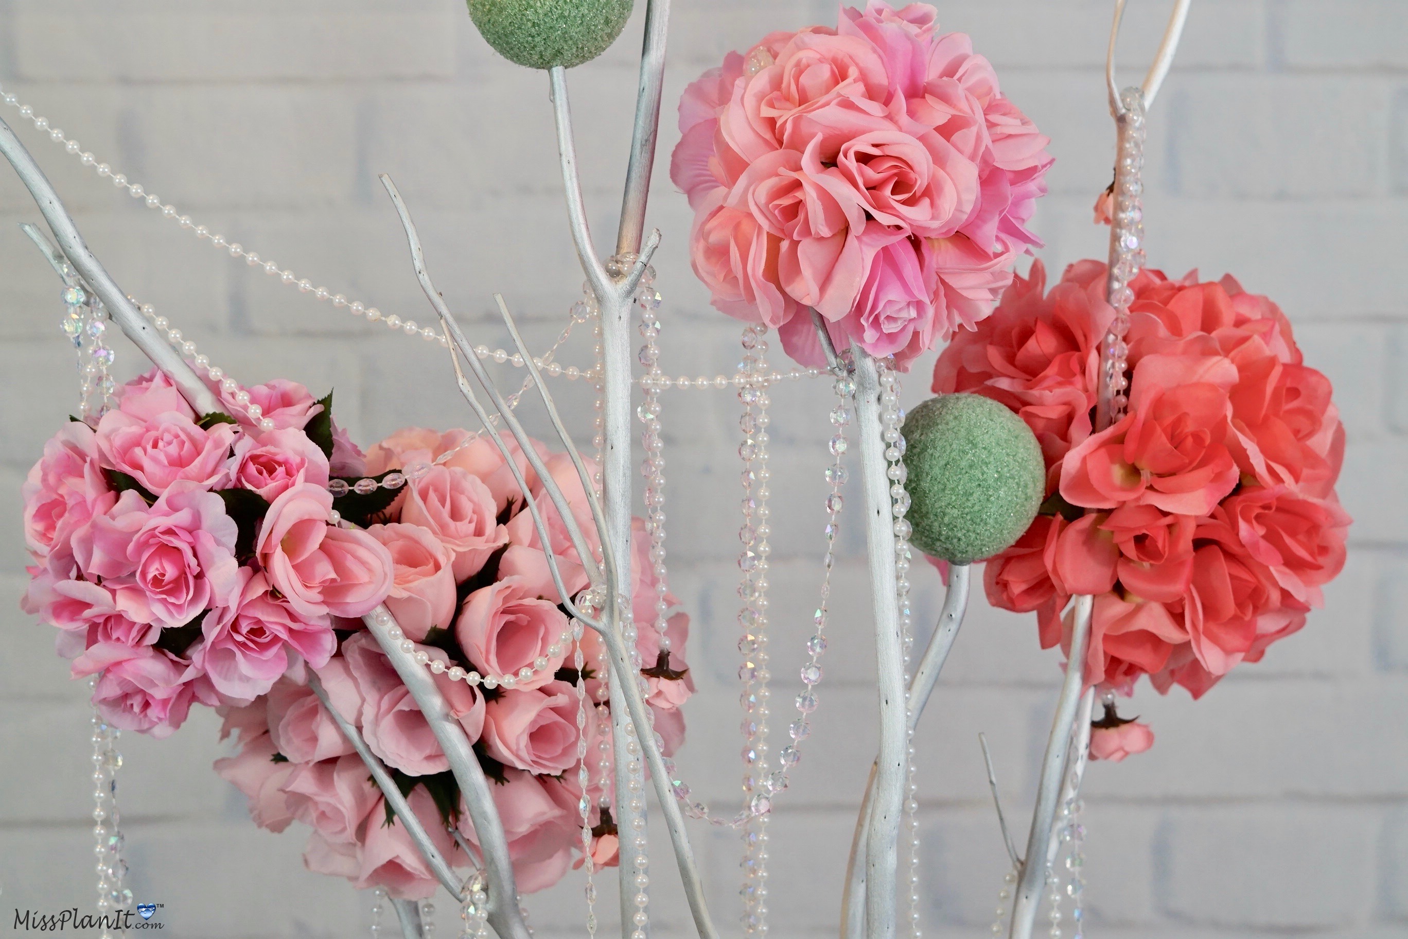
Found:
<path fill-rule="evenodd" d="M 469 18 L 501 56 L 529 69 L 570 69 L 607 51 L 634 0 L 469 0 Z"/>

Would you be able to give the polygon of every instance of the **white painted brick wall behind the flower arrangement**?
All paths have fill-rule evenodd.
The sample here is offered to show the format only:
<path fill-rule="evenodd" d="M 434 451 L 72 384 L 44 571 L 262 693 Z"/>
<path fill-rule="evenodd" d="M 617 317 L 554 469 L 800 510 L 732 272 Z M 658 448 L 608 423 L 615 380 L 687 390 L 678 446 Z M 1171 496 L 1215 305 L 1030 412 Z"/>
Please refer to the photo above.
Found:
<path fill-rule="evenodd" d="M 638 3 L 638 6 L 641 6 Z M 1114 134 L 1100 63 L 1110 3 L 949 0 L 1004 90 L 1052 138 L 1052 193 L 1036 231 L 1046 263 L 1104 256 L 1090 206 L 1110 180 Z M 666 127 L 652 222 L 665 231 L 665 367 L 732 373 L 738 328 L 689 272 L 684 198 L 665 179 L 684 83 L 773 28 L 834 23 L 822 0 L 676 0 Z M 1133 3 L 1124 62 L 1148 62 L 1164 3 Z M 570 73 L 589 206 L 614 231 L 634 100 L 639 13 L 601 61 Z M 1157 746 L 1088 774 L 1090 935 L 1214 939 L 1408 932 L 1408 4 L 1394 0 L 1202 0 L 1150 122 L 1149 252 L 1181 275 L 1233 272 L 1295 324 L 1307 362 L 1335 382 L 1349 428 L 1340 496 L 1356 517 L 1326 610 L 1200 702 L 1148 687 L 1129 714 Z M 1125 80 L 1138 77 L 1135 69 Z M 394 214 L 390 172 L 421 222 L 429 260 L 482 341 L 504 341 L 504 291 L 541 348 L 582 273 L 565 234 L 545 76 L 513 66 L 458 0 L 0 0 L 0 80 L 163 201 L 332 291 L 425 320 Z M 18 115 L 3 115 L 18 128 Z M 589 130 L 590 128 L 590 130 Z M 34 131 L 18 128 L 118 282 L 158 305 L 245 380 L 337 387 L 363 442 L 404 424 L 467 420 L 448 363 L 422 342 L 356 324 L 329 304 L 231 262 L 139 207 Z M 73 410 L 58 282 L 15 228 L 38 221 L 0 172 L 0 931 L 11 909 L 92 898 L 83 688 L 51 631 L 17 610 L 25 563 L 18 489 Z M 587 365 L 590 348 L 563 360 Z M 120 362 L 135 367 L 122 344 Z M 779 355 L 780 359 L 780 355 Z M 917 367 L 910 397 L 928 386 Z M 514 376 L 517 379 L 517 376 Z M 577 425 L 589 414 L 569 386 Z M 780 726 L 794 694 L 819 583 L 824 384 L 774 394 L 774 674 Z M 669 391 L 674 584 L 696 615 L 681 764 L 718 804 L 736 798 L 732 621 L 736 400 Z M 583 442 L 590 438 L 584 431 Z M 873 752 L 873 667 L 862 539 L 846 518 L 832 652 L 817 735 L 773 824 L 773 935 L 834 929 L 855 802 Z M 921 574 L 922 619 L 938 608 Z M 1033 618 L 979 601 L 922 728 L 925 928 L 986 935 L 1005 867 L 976 733 L 1010 811 L 1029 811 L 1059 680 Z M 125 739 L 122 807 L 141 900 L 190 939 L 365 935 L 365 897 L 308 874 L 296 831 L 256 831 L 210 763 L 210 712 L 165 742 Z M 1018 822 L 1025 831 L 1025 825 Z M 717 918 L 735 932 L 738 843 L 696 832 Z M 655 926 L 689 921 L 656 840 Z M 580 881 L 534 898 L 541 935 L 584 933 Z M 603 888 L 610 895 L 610 886 Z M 449 904 L 442 902 L 442 932 Z M 612 902 L 603 902 L 610 919 Z M 610 933 L 610 928 L 604 926 Z M 1069 933 L 1067 933 L 1069 935 Z"/>

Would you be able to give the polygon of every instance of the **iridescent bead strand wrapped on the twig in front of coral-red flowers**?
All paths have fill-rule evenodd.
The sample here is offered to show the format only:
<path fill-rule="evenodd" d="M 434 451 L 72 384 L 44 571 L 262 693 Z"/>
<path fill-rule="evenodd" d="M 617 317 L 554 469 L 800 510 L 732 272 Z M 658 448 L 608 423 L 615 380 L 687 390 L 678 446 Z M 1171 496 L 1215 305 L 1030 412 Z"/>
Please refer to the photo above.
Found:
<path fill-rule="evenodd" d="M 1100 348 L 1100 397 L 1095 404 L 1095 429 L 1104 429 L 1124 417 L 1129 405 L 1125 336 L 1129 334 L 1129 304 L 1135 293 L 1129 283 L 1143 270 L 1143 92 L 1128 87 L 1119 94 L 1124 113 L 1117 122 L 1119 137 L 1115 152 L 1114 211 L 1110 225 L 1110 273 L 1105 297 L 1115 308 L 1115 318 Z"/>

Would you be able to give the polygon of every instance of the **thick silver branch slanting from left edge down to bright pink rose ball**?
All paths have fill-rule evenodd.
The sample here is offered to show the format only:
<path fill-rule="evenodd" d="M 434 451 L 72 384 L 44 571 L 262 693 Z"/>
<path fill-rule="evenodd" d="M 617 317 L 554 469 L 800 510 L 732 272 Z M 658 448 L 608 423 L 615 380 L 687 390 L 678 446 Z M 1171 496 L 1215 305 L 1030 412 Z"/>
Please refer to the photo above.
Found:
<path fill-rule="evenodd" d="M 34 162 L 30 151 L 24 148 L 24 144 L 20 142 L 20 138 L 14 135 L 14 131 L 3 120 L 0 120 L 0 153 L 10 160 L 10 166 L 14 168 L 20 182 L 30 190 L 30 196 L 34 197 L 35 204 L 39 207 L 39 214 L 44 215 L 44 221 L 48 222 L 49 231 L 54 232 L 59 244 L 59 251 L 69 259 L 69 265 L 77 276 L 90 284 L 93 293 L 107 307 L 113 322 L 118 325 L 127 338 L 156 367 L 170 377 L 172 383 L 182 393 L 182 397 L 190 403 L 197 414 L 225 414 L 225 407 L 221 405 L 220 398 L 206 387 L 206 383 L 180 358 L 180 353 L 166 342 L 166 336 L 161 335 L 152 324 L 146 322 L 141 311 L 138 311 L 137 304 L 127 298 L 122 289 L 117 286 L 117 282 L 108 276 L 103 265 L 99 263 L 99 259 L 89 251 L 89 246 L 83 242 L 83 235 L 79 234 L 77 225 L 73 222 L 73 217 L 63 208 L 63 203 L 59 200 L 54 184 L 49 183 L 44 170 Z"/>

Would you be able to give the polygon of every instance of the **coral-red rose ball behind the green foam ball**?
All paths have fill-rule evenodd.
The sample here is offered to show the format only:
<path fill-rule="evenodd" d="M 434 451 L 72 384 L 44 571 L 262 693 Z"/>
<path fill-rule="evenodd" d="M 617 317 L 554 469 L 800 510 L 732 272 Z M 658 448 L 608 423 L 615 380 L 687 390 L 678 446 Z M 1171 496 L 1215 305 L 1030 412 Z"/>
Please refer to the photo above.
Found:
<path fill-rule="evenodd" d="M 943 351 L 934 390 L 1002 403 L 1046 459 L 1046 505 L 988 560 L 988 600 L 1036 611 L 1042 645 L 1069 648 L 1067 601 L 1094 594 L 1088 681 L 1128 693 L 1148 674 L 1198 697 L 1300 629 L 1343 567 L 1345 431 L 1274 303 L 1232 277 L 1143 270 L 1129 410 L 1095 432 L 1104 284 L 1083 260 L 1046 291 L 1035 262 Z"/>

